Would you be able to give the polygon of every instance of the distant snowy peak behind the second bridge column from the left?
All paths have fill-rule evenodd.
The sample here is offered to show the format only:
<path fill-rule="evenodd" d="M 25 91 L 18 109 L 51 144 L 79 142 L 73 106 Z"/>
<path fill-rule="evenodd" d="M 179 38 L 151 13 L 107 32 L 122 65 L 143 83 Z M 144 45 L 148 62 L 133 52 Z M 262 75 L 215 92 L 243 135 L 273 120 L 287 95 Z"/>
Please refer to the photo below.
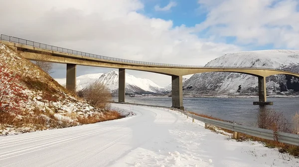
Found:
<path fill-rule="evenodd" d="M 118 71 L 112 70 L 104 73 L 99 82 L 105 84 L 112 93 L 118 92 Z M 126 73 L 126 93 L 129 94 L 149 94 L 149 93 L 164 93 L 167 90 L 158 86 L 154 82 L 146 78 L 137 78 L 133 75 Z"/>

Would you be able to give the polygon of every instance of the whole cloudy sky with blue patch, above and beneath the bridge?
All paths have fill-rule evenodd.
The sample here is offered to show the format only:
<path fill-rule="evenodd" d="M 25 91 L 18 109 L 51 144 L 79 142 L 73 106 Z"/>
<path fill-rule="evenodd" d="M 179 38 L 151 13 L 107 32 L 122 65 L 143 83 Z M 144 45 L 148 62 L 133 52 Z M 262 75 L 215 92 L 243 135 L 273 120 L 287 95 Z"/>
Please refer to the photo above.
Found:
<path fill-rule="evenodd" d="M 0 0 L 0 8 L 1 34 L 117 58 L 205 65 L 239 51 L 299 50 L 299 0 Z M 77 76 L 110 70 L 78 66 Z M 53 71 L 66 77 L 65 64 Z"/>

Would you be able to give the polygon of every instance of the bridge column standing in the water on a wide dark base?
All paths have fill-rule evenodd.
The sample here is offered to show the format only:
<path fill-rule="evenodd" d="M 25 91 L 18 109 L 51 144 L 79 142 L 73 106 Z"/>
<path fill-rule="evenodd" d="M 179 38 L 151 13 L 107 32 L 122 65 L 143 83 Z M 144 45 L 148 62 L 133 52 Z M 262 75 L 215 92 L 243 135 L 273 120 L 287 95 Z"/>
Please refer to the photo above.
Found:
<path fill-rule="evenodd" d="M 266 77 L 259 76 L 259 102 L 253 102 L 254 105 L 273 105 L 273 102 L 267 102 Z"/>

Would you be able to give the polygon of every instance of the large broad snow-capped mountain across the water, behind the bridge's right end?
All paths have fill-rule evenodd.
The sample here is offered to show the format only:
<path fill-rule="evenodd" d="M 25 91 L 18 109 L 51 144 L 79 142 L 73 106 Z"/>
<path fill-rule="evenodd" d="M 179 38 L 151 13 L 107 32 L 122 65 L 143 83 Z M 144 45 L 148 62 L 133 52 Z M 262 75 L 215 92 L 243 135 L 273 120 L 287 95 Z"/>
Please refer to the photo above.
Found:
<path fill-rule="evenodd" d="M 205 66 L 264 67 L 299 72 L 299 51 L 265 50 L 226 54 Z M 287 75 L 266 78 L 268 95 L 299 94 L 298 79 Z M 183 83 L 184 95 L 257 95 L 255 76 L 230 72 L 198 73 Z"/>

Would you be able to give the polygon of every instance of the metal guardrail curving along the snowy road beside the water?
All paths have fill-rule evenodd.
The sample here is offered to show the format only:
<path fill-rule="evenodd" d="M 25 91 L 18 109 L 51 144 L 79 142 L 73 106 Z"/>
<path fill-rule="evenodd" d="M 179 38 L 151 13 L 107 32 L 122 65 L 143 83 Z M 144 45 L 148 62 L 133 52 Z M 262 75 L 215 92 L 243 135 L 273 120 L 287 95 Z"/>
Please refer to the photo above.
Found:
<path fill-rule="evenodd" d="M 292 134 L 292 133 L 285 133 L 285 132 L 277 132 L 276 133 L 273 130 L 262 129 L 262 128 L 257 128 L 257 127 L 253 127 L 253 126 L 245 126 L 245 125 L 210 119 L 210 118 L 198 116 L 195 114 L 191 114 L 187 111 L 182 111 L 182 110 L 174 109 L 174 108 L 170 108 L 170 107 L 152 106 L 152 105 L 143 105 L 143 104 L 134 104 L 134 103 L 119 103 L 119 102 L 111 102 L 111 103 L 129 104 L 129 105 L 136 105 L 136 106 L 149 106 L 149 107 L 158 107 L 158 108 L 166 108 L 166 109 L 176 110 L 176 111 L 180 111 L 181 113 L 187 115 L 188 117 L 191 117 L 193 119 L 199 120 L 201 122 L 204 122 L 204 123 L 216 126 L 216 127 L 248 134 L 248 135 L 255 136 L 255 137 L 260 137 L 263 139 L 279 141 L 281 143 L 299 146 L 299 134 Z"/>

